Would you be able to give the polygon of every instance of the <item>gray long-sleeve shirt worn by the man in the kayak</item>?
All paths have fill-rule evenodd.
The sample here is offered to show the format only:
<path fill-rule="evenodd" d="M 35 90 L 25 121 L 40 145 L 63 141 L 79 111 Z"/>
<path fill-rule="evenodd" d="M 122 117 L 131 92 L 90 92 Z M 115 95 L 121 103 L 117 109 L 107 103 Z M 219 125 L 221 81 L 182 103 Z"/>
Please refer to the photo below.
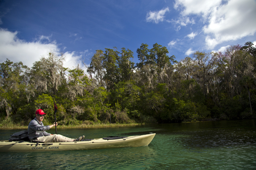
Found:
<path fill-rule="evenodd" d="M 51 133 L 45 132 L 49 130 L 50 126 L 44 126 L 43 122 L 39 122 L 37 118 L 30 121 L 28 125 L 28 137 L 30 140 L 35 140 L 35 138 L 49 136 Z"/>

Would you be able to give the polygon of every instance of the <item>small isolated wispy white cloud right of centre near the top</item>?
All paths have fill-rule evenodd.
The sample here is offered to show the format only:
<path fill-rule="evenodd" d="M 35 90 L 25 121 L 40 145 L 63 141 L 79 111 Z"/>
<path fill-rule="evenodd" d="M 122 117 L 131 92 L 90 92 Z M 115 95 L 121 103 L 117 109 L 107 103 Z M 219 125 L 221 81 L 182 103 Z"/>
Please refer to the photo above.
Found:
<path fill-rule="evenodd" d="M 160 11 L 149 11 L 146 16 L 147 22 L 163 22 L 165 13 L 169 11 L 169 7 L 166 7 L 165 9 L 162 9 Z"/>

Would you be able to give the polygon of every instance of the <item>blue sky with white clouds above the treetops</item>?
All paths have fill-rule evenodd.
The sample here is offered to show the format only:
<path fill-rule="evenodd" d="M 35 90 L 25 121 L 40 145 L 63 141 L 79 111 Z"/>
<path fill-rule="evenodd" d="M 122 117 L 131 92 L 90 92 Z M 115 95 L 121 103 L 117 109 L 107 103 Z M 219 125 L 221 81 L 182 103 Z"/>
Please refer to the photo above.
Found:
<path fill-rule="evenodd" d="M 256 44 L 256 0 L 0 0 L 0 63 L 32 67 L 63 53 L 64 67 L 96 50 L 165 46 L 177 61 L 196 51 Z"/>

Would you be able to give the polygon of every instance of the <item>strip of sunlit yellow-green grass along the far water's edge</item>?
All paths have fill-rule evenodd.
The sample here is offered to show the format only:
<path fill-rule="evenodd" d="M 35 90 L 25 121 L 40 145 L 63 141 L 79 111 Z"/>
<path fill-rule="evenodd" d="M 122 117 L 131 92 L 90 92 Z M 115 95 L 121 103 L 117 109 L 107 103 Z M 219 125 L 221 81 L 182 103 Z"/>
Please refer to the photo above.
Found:
<path fill-rule="evenodd" d="M 58 125 L 57 129 L 83 129 L 83 128 L 118 128 L 118 127 L 131 127 L 131 126 L 139 126 L 144 125 L 145 123 L 130 123 L 130 124 L 119 124 L 119 123 L 109 123 L 109 124 L 80 124 L 80 125 Z M 27 129 L 27 126 L 20 125 L 4 125 L 0 126 L 1 130 L 11 130 L 11 129 Z"/>

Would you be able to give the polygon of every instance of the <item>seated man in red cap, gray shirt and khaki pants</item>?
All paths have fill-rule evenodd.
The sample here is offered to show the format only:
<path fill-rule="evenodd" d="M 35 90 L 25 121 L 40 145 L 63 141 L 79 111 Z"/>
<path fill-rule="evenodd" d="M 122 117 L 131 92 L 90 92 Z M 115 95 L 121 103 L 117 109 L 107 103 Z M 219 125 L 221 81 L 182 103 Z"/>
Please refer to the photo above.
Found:
<path fill-rule="evenodd" d="M 68 137 L 64 137 L 62 135 L 51 134 L 45 132 L 45 130 L 51 129 L 53 126 L 57 126 L 58 123 L 54 122 L 53 125 L 44 126 L 43 119 L 46 113 L 43 110 L 38 109 L 36 111 L 36 117 L 30 121 L 28 125 L 28 137 L 31 141 L 39 141 L 45 143 L 51 142 L 73 142 L 73 141 L 81 141 L 84 136 L 79 137 L 77 139 L 72 139 Z"/>

